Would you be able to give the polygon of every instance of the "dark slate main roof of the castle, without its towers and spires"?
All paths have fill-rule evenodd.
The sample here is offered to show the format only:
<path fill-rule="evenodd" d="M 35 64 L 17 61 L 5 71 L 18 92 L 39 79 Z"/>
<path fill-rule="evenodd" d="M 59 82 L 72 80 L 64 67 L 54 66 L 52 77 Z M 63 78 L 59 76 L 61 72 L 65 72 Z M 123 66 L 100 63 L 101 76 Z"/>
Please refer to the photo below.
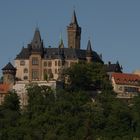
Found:
<path fill-rule="evenodd" d="M 44 58 L 46 59 L 57 59 L 60 58 L 62 55 L 60 52 L 63 51 L 65 59 L 80 59 L 80 60 L 86 60 L 86 50 L 82 49 L 73 49 L 73 48 L 44 48 Z M 30 48 L 22 48 L 21 52 L 16 56 L 15 59 L 29 59 L 31 54 Z M 93 53 L 93 61 L 95 62 L 101 62 L 101 58 L 99 55 L 92 51 Z"/>

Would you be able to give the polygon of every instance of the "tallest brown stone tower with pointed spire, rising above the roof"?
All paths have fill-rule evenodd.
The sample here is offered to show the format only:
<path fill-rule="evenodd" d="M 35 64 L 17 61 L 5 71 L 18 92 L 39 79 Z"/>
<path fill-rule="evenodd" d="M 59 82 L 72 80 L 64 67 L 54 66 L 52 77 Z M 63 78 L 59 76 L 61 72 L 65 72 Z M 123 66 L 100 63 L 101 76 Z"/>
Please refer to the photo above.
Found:
<path fill-rule="evenodd" d="M 79 27 L 76 13 L 73 11 L 72 20 L 67 27 L 68 48 L 80 49 L 81 27 Z"/>

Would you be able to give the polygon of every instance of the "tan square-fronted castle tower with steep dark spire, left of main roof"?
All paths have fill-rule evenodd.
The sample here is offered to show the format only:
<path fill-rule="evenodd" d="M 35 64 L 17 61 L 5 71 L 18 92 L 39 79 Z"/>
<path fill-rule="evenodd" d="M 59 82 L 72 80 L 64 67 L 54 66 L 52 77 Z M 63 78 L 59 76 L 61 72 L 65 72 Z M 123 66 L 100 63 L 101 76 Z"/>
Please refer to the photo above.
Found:
<path fill-rule="evenodd" d="M 42 80 L 42 59 L 44 56 L 44 45 L 38 28 L 35 29 L 30 48 L 31 55 L 29 57 L 29 80 Z"/>

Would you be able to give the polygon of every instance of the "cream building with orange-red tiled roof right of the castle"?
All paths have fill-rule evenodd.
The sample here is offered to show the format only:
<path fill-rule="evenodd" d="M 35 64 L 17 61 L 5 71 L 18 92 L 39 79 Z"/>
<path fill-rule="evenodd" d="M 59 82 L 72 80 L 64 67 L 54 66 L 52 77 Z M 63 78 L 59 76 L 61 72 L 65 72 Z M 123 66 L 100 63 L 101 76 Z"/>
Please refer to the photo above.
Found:
<path fill-rule="evenodd" d="M 112 86 L 118 98 L 132 98 L 140 92 L 140 76 L 129 73 L 112 73 Z"/>

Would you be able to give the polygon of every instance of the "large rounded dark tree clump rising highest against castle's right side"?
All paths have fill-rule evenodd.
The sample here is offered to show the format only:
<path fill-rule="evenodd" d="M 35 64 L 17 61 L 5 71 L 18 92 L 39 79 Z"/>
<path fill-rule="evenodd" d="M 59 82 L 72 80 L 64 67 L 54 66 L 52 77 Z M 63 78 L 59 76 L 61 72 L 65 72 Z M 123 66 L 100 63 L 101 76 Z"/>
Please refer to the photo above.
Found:
<path fill-rule="evenodd" d="M 70 90 L 111 89 L 103 64 L 78 63 L 65 72 L 68 77 L 66 87 Z"/>

